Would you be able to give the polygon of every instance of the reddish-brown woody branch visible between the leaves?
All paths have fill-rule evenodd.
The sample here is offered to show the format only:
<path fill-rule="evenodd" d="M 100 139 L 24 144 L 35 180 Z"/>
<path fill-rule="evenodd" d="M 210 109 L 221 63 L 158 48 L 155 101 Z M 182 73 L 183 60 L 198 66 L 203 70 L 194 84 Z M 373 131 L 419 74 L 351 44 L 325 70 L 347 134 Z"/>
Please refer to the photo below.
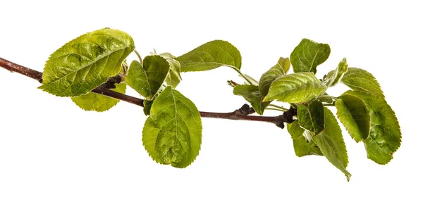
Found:
<path fill-rule="evenodd" d="M 18 65 L 11 61 L 7 61 L 4 58 L 0 58 L 0 66 L 5 68 L 6 70 L 10 70 L 11 72 L 20 73 L 27 77 L 31 77 L 34 80 L 42 83 L 42 73 L 37 70 L 32 70 L 30 68 L 26 68 L 22 65 Z M 130 104 L 135 104 L 137 106 L 144 107 L 144 100 L 134 97 L 128 96 L 126 94 L 121 94 L 119 92 L 115 92 L 108 87 L 114 85 L 114 83 L 118 82 L 118 79 L 115 77 L 111 77 L 109 81 L 104 83 L 102 86 L 99 86 L 93 89 L 91 92 L 96 94 L 102 94 L 104 96 L 109 96 L 114 99 L 118 99 L 121 101 L 128 102 Z M 255 111 L 245 104 L 243 107 L 231 112 L 231 113 L 212 113 L 212 112 L 203 112 L 200 111 L 200 115 L 203 118 L 222 118 L 228 120 L 249 120 L 249 121 L 261 121 L 266 123 L 274 123 L 276 126 L 283 128 L 283 123 L 293 123 L 293 116 L 297 115 L 296 108 L 290 108 L 288 111 L 284 112 L 282 115 L 278 116 L 257 116 L 257 115 L 248 115 L 251 113 L 255 113 Z"/>

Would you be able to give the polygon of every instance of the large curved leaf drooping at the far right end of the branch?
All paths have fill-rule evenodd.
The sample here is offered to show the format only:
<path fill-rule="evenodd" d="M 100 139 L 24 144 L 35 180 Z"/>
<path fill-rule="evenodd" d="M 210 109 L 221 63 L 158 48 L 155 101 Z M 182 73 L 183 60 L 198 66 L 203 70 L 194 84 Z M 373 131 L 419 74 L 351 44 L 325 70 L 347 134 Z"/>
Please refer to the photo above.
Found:
<path fill-rule="evenodd" d="M 344 94 L 359 97 L 369 109 L 370 133 L 363 140 L 367 157 L 379 164 L 391 161 L 401 144 L 400 125 L 391 106 L 381 96 L 367 92 L 348 91 Z"/>

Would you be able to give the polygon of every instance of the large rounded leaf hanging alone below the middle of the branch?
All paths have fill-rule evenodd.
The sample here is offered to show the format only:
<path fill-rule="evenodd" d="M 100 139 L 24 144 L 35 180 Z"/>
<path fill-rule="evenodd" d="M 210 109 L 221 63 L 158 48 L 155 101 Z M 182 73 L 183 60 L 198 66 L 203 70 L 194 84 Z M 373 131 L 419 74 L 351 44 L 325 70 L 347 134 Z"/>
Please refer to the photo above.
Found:
<path fill-rule="evenodd" d="M 161 164 L 185 168 L 200 152 L 200 112 L 180 92 L 166 87 L 154 100 L 142 130 L 149 156 Z"/>

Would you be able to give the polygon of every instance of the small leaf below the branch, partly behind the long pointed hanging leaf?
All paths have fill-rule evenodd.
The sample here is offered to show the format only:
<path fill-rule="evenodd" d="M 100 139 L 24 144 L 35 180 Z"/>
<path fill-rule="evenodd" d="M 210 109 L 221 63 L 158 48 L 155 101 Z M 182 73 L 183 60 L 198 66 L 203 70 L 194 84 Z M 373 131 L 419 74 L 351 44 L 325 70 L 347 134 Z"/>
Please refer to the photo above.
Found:
<path fill-rule="evenodd" d="M 293 138 L 293 145 L 295 155 L 302 157 L 307 155 L 323 155 L 319 147 L 314 142 L 307 142 L 305 137 L 302 136 L 304 129 L 298 125 L 298 120 L 287 125 L 288 132 Z"/>

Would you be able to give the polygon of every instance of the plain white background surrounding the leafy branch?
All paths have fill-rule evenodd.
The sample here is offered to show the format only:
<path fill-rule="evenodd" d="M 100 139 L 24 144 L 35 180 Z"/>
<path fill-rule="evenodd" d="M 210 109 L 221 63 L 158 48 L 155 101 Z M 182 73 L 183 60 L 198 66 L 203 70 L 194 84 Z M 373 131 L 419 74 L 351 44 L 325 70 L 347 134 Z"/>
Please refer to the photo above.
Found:
<path fill-rule="evenodd" d="M 227 40 L 257 79 L 302 38 L 328 43 L 318 76 L 343 57 L 372 73 L 403 144 L 391 163 L 377 165 L 343 130 L 347 182 L 324 157 L 296 157 L 286 130 L 205 118 L 200 156 L 176 169 L 143 148 L 142 108 L 85 112 L 0 69 L 0 218 L 422 218 L 422 6 L 372 2 L 2 2 L 0 57 L 36 70 L 69 40 L 103 27 L 128 32 L 142 56 Z M 226 85 L 242 82 L 229 68 L 182 76 L 178 89 L 201 111 L 244 104 Z"/>

